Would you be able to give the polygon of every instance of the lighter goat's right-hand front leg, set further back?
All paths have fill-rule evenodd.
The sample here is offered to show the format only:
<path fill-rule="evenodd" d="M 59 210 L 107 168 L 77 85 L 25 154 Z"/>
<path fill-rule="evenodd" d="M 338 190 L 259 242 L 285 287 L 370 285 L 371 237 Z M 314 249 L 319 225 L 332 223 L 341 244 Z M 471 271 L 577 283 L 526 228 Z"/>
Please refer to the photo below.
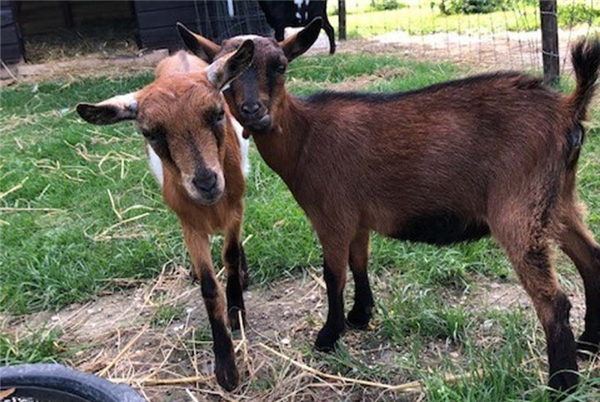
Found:
<path fill-rule="evenodd" d="M 223 247 L 223 263 L 227 270 L 227 314 L 231 329 L 234 331 L 240 329 L 240 312 L 243 322 L 246 322 L 242 290 L 248 287 L 248 267 L 241 243 L 241 227 L 241 221 L 232 225 L 225 234 Z"/>

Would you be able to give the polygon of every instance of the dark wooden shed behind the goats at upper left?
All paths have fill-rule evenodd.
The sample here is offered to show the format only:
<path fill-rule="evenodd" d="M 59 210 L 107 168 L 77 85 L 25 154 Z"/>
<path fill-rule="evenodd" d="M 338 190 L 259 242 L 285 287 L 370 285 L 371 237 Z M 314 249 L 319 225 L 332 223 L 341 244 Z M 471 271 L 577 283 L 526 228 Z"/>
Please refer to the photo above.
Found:
<path fill-rule="evenodd" d="M 216 42 L 240 34 L 269 35 L 272 31 L 256 0 L 191 1 L 2 1 L 2 55 L 7 63 L 27 60 L 28 39 L 61 42 L 69 32 L 96 27 L 102 35 L 117 31 L 140 49 L 183 46 L 175 23 Z M 117 28 L 115 28 L 117 27 Z"/>

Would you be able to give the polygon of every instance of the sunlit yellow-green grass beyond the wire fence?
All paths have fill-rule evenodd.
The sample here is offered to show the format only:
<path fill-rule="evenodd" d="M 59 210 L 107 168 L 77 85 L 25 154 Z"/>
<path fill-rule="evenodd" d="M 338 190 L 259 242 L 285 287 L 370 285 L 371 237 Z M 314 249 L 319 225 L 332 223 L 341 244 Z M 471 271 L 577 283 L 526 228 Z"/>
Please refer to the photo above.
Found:
<path fill-rule="evenodd" d="M 540 29 L 539 7 L 535 1 L 513 0 L 505 11 L 487 14 L 445 15 L 435 0 L 399 1 L 395 10 L 374 11 L 370 1 L 347 2 L 346 26 L 348 37 L 370 38 L 393 31 L 405 31 L 411 35 L 440 32 L 487 34 L 503 31 L 535 31 Z M 330 14 L 337 11 L 329 6 Z M 330 21 L 337 30 L 337 15 Z M 559 24 L 568 29 L 574 26 L 600 26 L 600 6 L 589 0 L 559 1 Z"/>

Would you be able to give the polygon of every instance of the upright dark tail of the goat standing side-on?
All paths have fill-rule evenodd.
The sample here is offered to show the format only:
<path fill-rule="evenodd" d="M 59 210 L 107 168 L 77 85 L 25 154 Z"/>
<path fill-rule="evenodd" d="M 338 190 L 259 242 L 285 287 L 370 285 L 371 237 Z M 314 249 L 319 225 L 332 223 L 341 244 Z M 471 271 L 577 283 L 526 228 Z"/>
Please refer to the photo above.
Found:
<path fill-rule="evenodd" d="M 571 52 L 577 86 L 569 97 L 575 121 L 585 119 L 600 74 L 600 37 L 582 39 Z"/>

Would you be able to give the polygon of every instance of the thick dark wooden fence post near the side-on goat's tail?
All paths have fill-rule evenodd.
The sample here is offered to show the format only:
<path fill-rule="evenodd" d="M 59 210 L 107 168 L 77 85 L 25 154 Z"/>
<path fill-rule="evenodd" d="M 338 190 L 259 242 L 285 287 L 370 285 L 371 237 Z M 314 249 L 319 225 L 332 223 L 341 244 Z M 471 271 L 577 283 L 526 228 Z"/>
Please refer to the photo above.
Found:
<path fill-rule="evenodd" d="M 547 83 L 558 81 L 560 75 L 557 16 L 556 0 L 540 0 L 544 82 Z"/>

